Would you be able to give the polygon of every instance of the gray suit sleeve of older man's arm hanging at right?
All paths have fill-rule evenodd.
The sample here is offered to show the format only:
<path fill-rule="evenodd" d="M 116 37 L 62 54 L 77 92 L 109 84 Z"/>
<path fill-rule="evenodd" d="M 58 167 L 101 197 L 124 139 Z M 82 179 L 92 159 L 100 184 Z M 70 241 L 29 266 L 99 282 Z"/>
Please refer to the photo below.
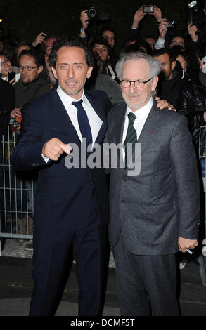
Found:
<path fill-rule="evenodd" d="M 184 116 L 178 118 L 170 143 L 179 207 L 179 236 L 198 238 L 200 186 L 198 163 Z"/>

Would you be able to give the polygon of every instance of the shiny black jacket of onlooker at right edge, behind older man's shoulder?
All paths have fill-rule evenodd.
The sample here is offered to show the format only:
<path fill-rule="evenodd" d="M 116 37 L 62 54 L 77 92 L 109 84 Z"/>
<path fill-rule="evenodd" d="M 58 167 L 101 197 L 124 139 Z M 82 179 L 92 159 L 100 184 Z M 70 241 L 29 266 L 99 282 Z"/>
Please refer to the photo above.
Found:
<path fill-rule="evenodd" d="M 204 112 L 206 111 L 206 88 L 193 82 L 188 82 L 181 91 L 177 111 L 188 119 L 188 128 L 193 136 L 195 150 L 199 151 L 199 138 L 201 146 L 205 146 Z"/>

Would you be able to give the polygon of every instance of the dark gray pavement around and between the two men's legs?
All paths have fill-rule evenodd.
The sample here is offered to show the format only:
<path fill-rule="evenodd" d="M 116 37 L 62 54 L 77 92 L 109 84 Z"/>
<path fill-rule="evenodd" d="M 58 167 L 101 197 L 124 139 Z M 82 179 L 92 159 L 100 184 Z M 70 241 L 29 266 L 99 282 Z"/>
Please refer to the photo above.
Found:
<path fill-rule="evenodd" d="M 25 251 L 30 241 L 18 242 L 6 239 L 0 256 L 0 317 L 27 316 L 32 293 L 32 251 Z M 200 264 L 202 263 L 201 267 Z M 206 258 L 186 255 L 186 267 L 179 270 L 179 305 L 182 317 L 206 316 Z M 78 286 L 75 263 L 65 286 L 63 298 L 56 316 L 77 316 Z M 120 310 L 117 299 L 115 264 L 110 256 L 108 286 L 103 317 L 118 318 Z M 9 318 L 11 321 L 11 318 Z"/>

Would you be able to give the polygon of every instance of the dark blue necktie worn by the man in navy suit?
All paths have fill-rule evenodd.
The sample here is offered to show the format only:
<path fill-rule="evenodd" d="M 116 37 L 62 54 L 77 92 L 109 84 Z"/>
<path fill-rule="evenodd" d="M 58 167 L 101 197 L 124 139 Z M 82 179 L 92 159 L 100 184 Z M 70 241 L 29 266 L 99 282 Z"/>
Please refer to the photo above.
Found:
<path fill-rule="evenodd" d="M 82 138 L 86 138 L 86 147 L 88 147 L 88 145 L 92 143 L 92 135 L 89 120 L 84 107 L 82 107 L 82 102 L 82 100 L 72 102 L 72 105 L 75 105 L 78 110 L 77 119 L 79 123 L 79 129 L 81 131 Z"/>

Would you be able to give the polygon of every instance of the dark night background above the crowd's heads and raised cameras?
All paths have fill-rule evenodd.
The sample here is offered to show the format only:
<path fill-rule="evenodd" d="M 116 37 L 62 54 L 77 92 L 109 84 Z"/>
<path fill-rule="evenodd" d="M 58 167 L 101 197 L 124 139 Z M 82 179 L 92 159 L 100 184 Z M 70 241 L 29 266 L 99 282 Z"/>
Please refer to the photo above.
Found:
<path fill-rule="evenodd" d="M 40 32 L 79 34 L 80 13 L 94 6 L 101 13 L 109 13 L 110 25 L 117 30 L 117 48 L 126 37 L 135 11 L 146 1 L 141 0 L 1 0 L 0 13 L 4 18 L 4 32 L 11 41 L 33 41 Z M 175 20 L 176 28 L 171 34 L 187 33 L 188 1 L 156 0 L 161 8 L 162 18 Z M 98 23 L 98 27 L 105 24 Z M 147 16 L 141 23 L 141 37 L 153 34 L 157 37 L 157 25 L 153 16 Z"/>

